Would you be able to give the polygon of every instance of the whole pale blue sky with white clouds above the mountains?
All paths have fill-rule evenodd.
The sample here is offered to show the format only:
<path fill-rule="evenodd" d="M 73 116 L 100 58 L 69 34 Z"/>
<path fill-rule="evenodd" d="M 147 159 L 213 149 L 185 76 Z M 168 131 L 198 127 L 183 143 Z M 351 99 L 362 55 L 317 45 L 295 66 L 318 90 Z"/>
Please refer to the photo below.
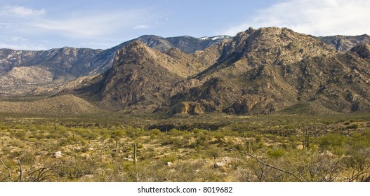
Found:
<path fill-rule="evenodd" d="M 369 10 L 366 0 L 1 0 L 0 48 L 105 49 L 144 34 L 234 36 L 249 27 L 370 34 Z"/>

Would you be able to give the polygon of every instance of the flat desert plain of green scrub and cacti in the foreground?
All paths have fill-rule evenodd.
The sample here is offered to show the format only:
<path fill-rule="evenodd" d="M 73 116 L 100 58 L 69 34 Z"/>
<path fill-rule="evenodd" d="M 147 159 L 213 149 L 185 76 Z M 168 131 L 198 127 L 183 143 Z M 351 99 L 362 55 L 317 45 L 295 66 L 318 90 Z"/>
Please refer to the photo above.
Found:
<path fill-rule="evenodd" d="M 106 115 L 2 118 L 0 181 L 370 180 L 367 113 Z"/>

